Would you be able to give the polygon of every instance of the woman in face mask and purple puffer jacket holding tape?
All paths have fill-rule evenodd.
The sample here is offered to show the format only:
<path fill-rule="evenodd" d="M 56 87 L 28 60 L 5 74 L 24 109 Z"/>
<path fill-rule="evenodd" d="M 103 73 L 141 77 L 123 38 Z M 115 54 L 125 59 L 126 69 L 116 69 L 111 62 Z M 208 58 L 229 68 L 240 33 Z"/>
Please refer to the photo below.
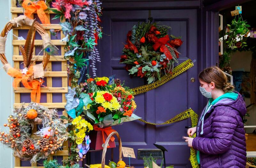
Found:
<path fill-rule="evenodd" d="M 246 144 L 242 121 L 246 113 L 243 97 L 227 84 L 226 75 L 213 66 L 199 74 L 202 95 L 209 98 L 197 127 L 184 137 L 196 149 L 201 168 L 245 168 Z"/>

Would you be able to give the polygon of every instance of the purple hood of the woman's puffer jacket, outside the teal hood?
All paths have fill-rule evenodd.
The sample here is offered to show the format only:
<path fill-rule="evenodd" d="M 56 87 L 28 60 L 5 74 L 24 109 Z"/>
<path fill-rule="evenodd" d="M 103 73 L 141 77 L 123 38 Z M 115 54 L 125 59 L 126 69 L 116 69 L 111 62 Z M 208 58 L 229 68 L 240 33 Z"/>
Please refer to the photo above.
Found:
<path fill-rule="evenodd" d="M 214 104 L 213 106 L 229 106 L 233 109 L 235 109 L 236 111 L 239 112 L 240 116 L 243 117 L 246 113 L 246 105 L 243 99 L 243 96 L 240 95 L 238 92 L 234 91 L 235 93 L 238 94 L 238 97 L 236 100 L 231 100 L 231 99 L 222 99 L 220 101 L 218 101 L 216 104 Z"/>

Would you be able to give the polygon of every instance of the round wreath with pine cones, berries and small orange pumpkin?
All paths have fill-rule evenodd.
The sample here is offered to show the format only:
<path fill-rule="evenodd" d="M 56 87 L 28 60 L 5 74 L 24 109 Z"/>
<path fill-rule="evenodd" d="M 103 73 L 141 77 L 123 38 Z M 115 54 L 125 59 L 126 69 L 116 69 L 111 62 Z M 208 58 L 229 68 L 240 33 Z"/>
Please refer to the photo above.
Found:
<path fill-rule="evenodd" d="M 0 142 L 13 149 L 15 157 L 31 163 L 60 150 L 68 138 L 66 125 L 58 118 L 57 111 L 38 103 L 29 103 L 27 107 L 23 104 L 14 110 L 4 126 L 10 130 L 0 133 Z M 32 135 L 34 126 L 38 126 L 38 131 Z"/>

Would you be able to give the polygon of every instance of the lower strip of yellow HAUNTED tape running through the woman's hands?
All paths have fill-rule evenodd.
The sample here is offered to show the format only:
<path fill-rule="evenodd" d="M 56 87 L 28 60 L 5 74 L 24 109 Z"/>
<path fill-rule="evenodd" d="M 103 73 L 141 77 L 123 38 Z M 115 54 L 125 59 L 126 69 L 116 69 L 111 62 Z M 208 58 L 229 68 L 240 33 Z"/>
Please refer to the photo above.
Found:
<path fill-rule="evenodd" d="M 183 119 L 187 119 L 187 118 L 191 118 L 191 123 L 192 123 L 192 127 L 195 127 L 197 125 L 197 120 L 198 120 L 198 115 L 195 113 L 195 111 L 193 111 L 192 109 L 188 109 L 186 111 L 183 111 L 182 113 L 176 115 L 175 117 L 165 121 L 164 123 L 161 124 L 155 124 L 155 123 L 150 123 L 147 122 L 143 119 L 139 119 L 141 122 L 144 122 L 146 124 L 151 124 L 151 125 L 165 125 L 165 124 L 171 124 L 171 123 L 175 123 L 178 121 L 181 121 Z M 196 133 L 192 136 L 189 136 L 191 138 L 195 138 L 196 137 Z M 199 165 L 197 163 L 197 159 L 196 159 L 196 150 L 193 148 L 190 148 L 190 158 L 189 158 L 191 165 L 193 168 L 199 168 Z"/>

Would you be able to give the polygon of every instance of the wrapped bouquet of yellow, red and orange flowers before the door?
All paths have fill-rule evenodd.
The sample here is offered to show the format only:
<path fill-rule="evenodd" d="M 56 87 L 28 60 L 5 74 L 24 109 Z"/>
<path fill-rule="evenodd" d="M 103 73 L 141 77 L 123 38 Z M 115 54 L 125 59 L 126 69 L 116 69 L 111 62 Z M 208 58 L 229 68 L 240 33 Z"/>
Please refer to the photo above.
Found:
<path fill-rule="evenodd" d="M 83 92 L 80 96 L 86 95 L 91 100 L 84 107 L 84 112 L 94 124 L 100 127 L 115 126 L 139 119 L 133 114 L 136 109 L 133 92 L 121 84 L 121 80 L 109 82 L 107 77 L 89 78 L 80 86 Z"/>

